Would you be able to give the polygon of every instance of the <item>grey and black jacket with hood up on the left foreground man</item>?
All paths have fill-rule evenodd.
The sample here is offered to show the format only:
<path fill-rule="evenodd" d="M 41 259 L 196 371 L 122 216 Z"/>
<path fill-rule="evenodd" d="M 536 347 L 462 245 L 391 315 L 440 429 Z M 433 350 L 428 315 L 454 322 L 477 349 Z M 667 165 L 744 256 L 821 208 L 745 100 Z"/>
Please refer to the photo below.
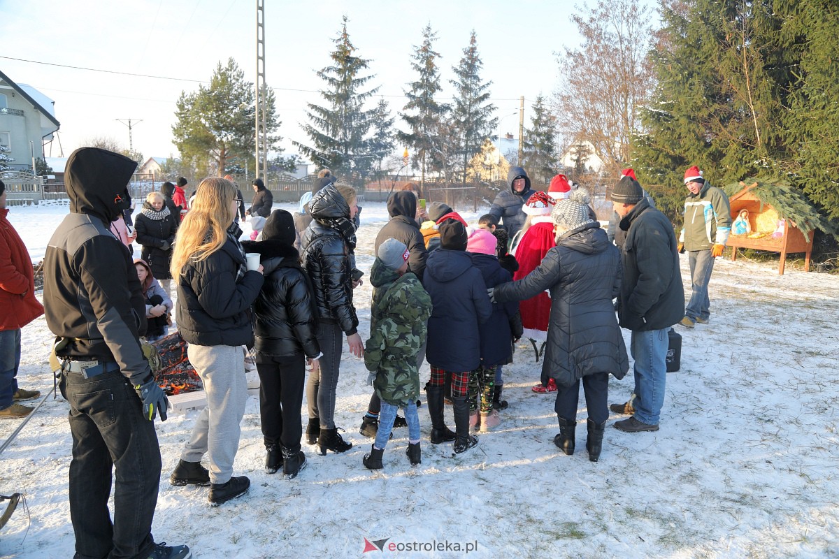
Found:
<path fill-rule="evenodd" d="M 70 215 L 44 255 L 44 314 L 53 334 L 70 339 L 59 357 L 116 361 L 136 385 L 151 375 L 139 342 L 146 308 L 131 255 L 108 230 L 130 207 L 135 168 L 100 148 L 79 148 L 67 159 Z"/>

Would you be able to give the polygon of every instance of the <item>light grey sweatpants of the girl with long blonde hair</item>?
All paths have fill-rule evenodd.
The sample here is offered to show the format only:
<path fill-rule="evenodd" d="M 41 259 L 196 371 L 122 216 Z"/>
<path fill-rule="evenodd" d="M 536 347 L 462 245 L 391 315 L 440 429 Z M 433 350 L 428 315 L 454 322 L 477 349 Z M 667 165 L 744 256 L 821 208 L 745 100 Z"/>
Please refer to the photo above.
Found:
<path fill-rule="evenodd" d="M 198 414 L 180 458 L 201 462 L 210 459 L 210 481 L 225 484 L 233 474 L 233 459 L 239 448 L 240 423 L 248 401 L 245 351 L 241 345 L 195 345 L 187 349 L 190 363 L 201 376 L 206 407 Z"/>

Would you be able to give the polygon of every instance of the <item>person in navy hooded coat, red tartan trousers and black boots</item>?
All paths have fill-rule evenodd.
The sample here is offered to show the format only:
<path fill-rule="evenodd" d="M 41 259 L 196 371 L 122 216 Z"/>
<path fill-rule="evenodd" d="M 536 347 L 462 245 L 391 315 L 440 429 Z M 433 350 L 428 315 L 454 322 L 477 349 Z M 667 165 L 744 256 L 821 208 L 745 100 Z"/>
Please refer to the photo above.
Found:
<path fill-rule="evenodd" d="M 440 248 L 426 262 L 423 285 L 434 308 L 428 319 L 431 379 L 425 386 L 431 417 L 431 443 L 454 440 L 455 453 L 477 444 L 469 434 L 469 373 L 481 365 L 479 325 L 492 315 L 481 272 L 466 254 L 466 227 L 458 220 L 440 223 Z M 443 421 L 443 387 L 451 377 L 456 432 Z"/>

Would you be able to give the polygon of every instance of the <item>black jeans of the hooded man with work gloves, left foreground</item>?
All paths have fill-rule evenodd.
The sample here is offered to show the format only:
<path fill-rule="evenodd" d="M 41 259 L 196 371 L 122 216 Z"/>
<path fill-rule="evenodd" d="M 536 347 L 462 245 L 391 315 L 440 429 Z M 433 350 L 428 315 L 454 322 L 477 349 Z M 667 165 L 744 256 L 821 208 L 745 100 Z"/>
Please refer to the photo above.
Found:
<path fill-rule="evenodd" d="M 76 556 L 134 557 L 149 551 L 160 483 L 160 448 L 154 422 L 118 370 L 90 379 L 64 373 L 61 395 L 70 402 L 70 520 Z M 113 521 L 107 508 L 114 487 Z"/>

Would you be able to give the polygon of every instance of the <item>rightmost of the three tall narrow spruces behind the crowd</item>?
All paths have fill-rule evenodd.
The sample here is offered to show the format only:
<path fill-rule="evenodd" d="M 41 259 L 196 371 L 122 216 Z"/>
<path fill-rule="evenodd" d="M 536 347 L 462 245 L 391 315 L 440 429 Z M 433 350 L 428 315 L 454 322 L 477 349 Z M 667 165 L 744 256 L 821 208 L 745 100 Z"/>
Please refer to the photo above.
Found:
<path fill-rule="evenodd" d="M 492 81 L 482 82 L 481 68 L 483 62 L 477 52 L 475 30 L 469 38 L 469 46 L 463 49 L 463 58 L 458 65 L 452 67 L 457 76 L 456 80 L 449 80 L 455 86 L 455 99 L 451 106 L 451 122 L 456 136 L 451 141 L 457 142 L 456 153 L 462 162 L 459 173 L 466 182 L 466 168 L 472 156 L 481 149 L 481 144 L 492 134 L 498 125 L 498 118 L 493 116 L 496 106 L 489 102 L 489 86 Z"/>

